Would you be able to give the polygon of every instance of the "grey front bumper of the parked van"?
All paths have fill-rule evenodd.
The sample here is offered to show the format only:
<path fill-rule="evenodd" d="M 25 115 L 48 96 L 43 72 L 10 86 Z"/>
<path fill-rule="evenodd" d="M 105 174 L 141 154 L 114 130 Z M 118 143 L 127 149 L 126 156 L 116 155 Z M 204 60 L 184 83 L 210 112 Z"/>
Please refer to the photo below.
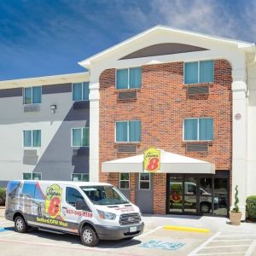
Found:
<path fill-rule="evenodd" d="M 137 231 L 130 232 L 131 227 L 137 227 Z M 144 230 L 144 223 L 124 227 L 96 225 L 95 228 L 96 233 L 101 240 L 120 240 L 141 235 Z"/>

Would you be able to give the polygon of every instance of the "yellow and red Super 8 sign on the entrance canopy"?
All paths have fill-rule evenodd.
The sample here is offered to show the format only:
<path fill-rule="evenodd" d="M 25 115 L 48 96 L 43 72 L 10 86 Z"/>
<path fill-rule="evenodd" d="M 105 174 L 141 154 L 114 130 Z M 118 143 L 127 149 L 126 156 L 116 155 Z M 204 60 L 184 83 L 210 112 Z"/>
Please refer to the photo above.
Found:
<path fill-rule="evenodd" d="M 156 148 L 148 148 L 144 152 L 144 171 L 157 172 L 160 170 L 160 150 Z"/>

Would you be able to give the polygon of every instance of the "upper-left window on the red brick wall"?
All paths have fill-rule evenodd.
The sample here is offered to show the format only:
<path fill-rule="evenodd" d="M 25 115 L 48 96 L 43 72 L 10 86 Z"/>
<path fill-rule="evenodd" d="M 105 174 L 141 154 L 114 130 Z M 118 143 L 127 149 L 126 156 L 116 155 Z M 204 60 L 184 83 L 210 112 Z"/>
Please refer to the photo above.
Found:
<path fill-rule="evenodd" d="M 116 71 L 116 89 L 136 89 L 142 84 L 142 68 L 131 67 L 117 69 Z"/>

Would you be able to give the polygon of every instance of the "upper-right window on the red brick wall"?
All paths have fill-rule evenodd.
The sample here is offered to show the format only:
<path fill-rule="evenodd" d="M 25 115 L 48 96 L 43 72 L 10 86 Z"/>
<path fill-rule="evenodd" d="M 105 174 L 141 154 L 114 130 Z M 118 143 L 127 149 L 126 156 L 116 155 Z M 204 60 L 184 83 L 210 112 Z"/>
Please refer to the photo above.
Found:
<path fill-rule="evenodd" d="M 184 64 L 184 84 L 213 82 L 213 61 L 195 61 Z"/>

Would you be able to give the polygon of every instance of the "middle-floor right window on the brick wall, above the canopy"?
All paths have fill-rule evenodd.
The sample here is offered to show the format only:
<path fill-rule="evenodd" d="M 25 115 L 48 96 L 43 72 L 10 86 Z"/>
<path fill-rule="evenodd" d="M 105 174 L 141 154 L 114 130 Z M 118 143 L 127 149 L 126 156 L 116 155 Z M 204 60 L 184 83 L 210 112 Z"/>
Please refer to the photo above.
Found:
<path fill-rule="evenodd" d="M 183 130 L 184 141 L 212 141 L 213 119 L 184 119 Z"/>

